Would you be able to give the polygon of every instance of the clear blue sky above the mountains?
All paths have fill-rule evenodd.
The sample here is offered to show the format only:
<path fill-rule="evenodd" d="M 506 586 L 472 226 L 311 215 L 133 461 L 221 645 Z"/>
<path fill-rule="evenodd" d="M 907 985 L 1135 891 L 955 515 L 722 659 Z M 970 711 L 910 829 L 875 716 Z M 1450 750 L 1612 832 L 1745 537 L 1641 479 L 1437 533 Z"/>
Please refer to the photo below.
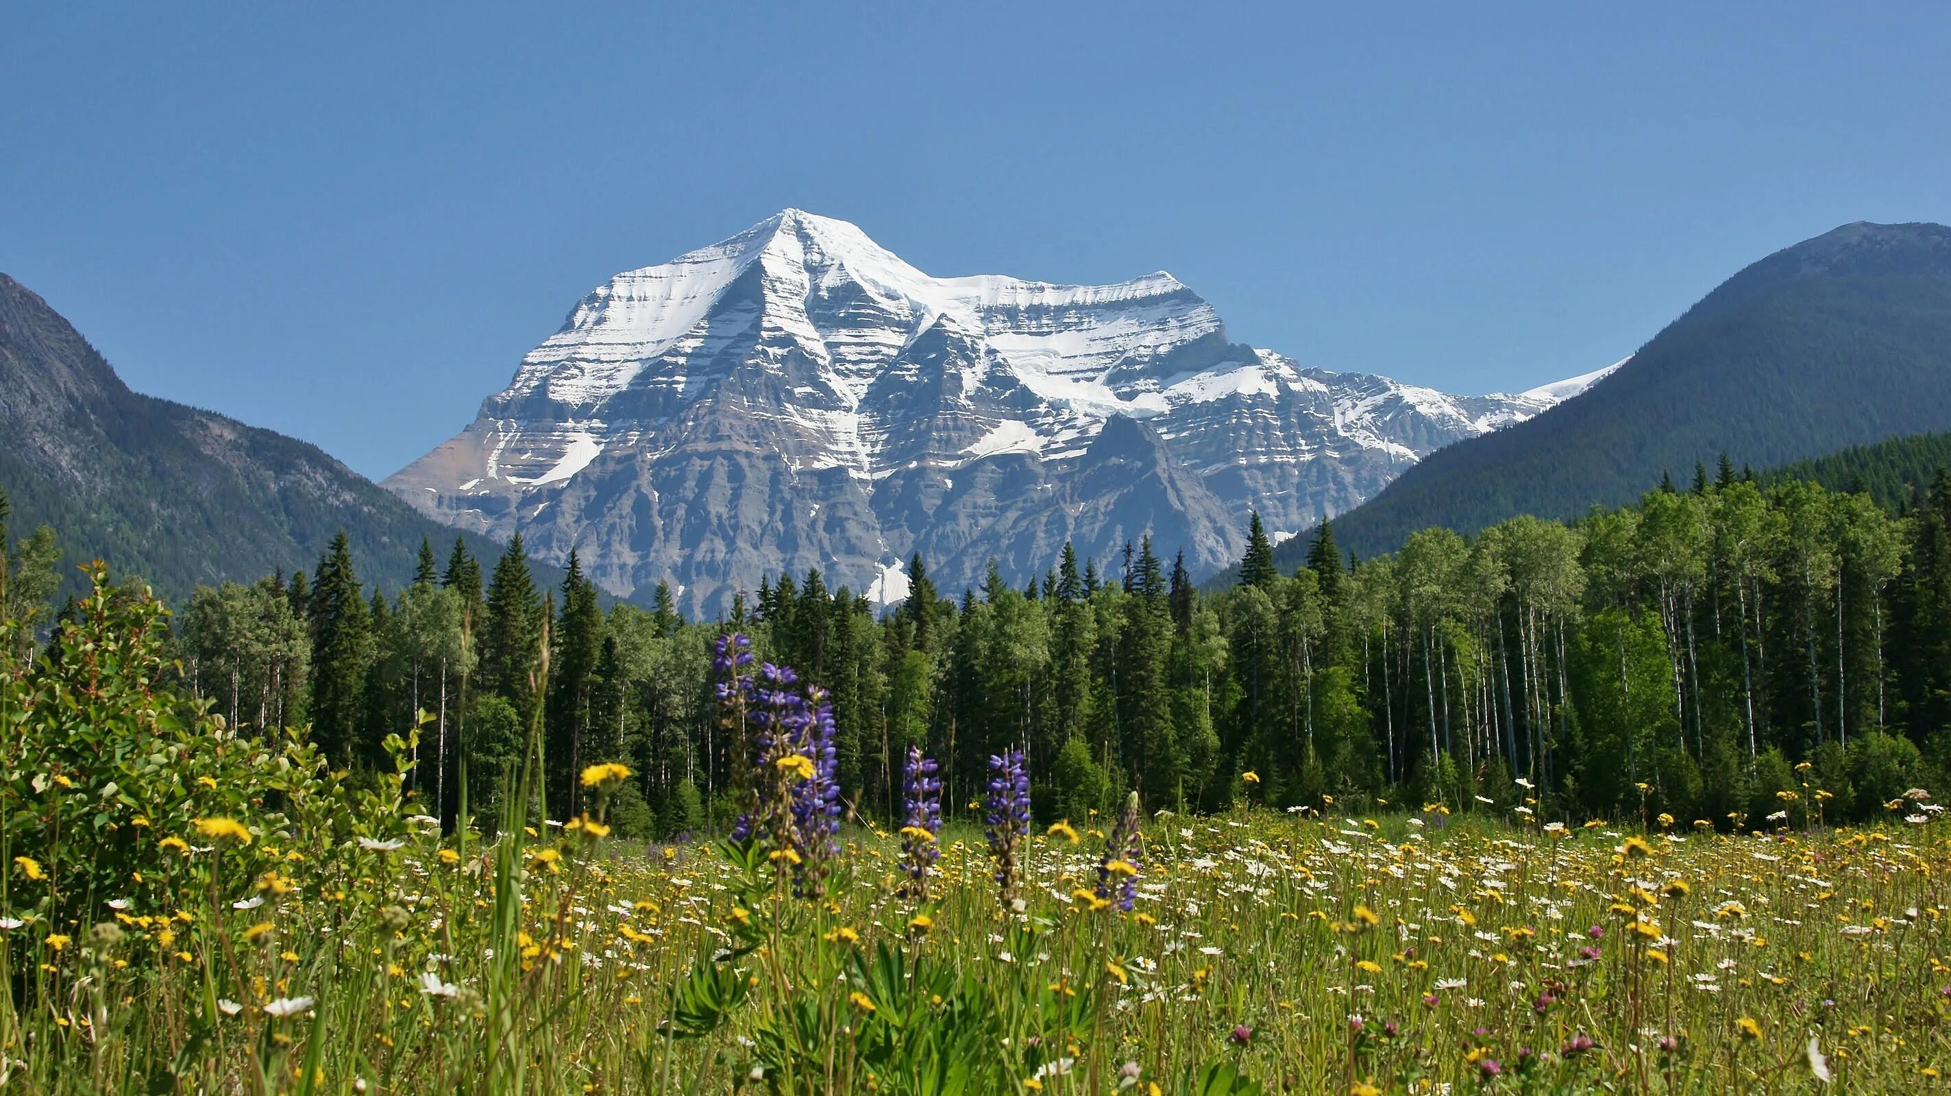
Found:
<path fill-rule="evenodd" d="M 577 296 L 794 205 L 936 275 L 1169 269 L 1453 392 L 1951 220 L 1943 4 L 23 4 L 0 271 L 380 478 Z"/>

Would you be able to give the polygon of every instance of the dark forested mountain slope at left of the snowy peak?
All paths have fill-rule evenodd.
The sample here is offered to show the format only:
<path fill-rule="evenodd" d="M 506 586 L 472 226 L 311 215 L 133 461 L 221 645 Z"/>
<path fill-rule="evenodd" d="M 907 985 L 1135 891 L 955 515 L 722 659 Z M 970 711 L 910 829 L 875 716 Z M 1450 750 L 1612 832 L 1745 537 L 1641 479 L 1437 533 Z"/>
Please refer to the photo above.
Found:
<path fill-rule="evenodd" d="M 60 314 L 0 275 L 0 489 L 16 532 L 47 523 L 62 571 L 90 558 L 181 599 L 197 583 L 310 569 L 339 528 L 361 577 L 398 589 L 421 536 L 455 530 L 318 447 L 131 392 Z M 492 566 L 499 546 L 470 536 Z"/>

